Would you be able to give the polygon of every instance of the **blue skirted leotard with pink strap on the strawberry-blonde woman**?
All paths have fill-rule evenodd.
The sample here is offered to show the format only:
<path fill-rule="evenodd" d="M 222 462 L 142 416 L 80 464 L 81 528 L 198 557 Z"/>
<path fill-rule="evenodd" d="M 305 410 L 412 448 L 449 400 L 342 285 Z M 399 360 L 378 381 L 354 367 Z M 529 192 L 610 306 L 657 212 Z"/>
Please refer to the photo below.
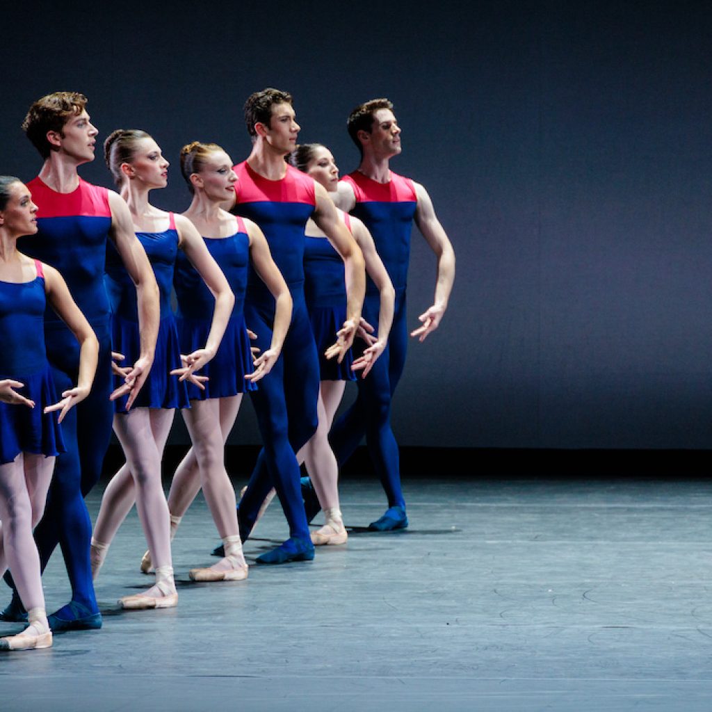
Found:
<path fill-rule="evenodd" d="M 250 263 L 250 238 L 244 220 L 236 218 L 237 231 L 224 238 L 204 237 L 209 253 L 223 271 L 235 295 L 235 305 L 225 334 L 215 356 L 203 367 L 200 374 L 209 380 L 205 390 L 188 384 L 191 400 L 227 398 L 256 385 L 246 381 L 253 371 L 250 340 L 245 327 L 244 303 L 247 270 Z M 179 253 L 173 279 L 178 301 L 178 334 L 183 353 L 192 353 L 204 347 L 212 326 L 215 298 L 201 276 L 184 253 Z"/>

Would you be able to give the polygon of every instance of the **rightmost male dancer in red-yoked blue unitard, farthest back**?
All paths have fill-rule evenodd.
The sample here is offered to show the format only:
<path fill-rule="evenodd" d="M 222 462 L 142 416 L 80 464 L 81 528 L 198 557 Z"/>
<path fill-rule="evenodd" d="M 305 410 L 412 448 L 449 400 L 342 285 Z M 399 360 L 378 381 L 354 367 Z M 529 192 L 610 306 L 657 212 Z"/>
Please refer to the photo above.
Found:
<path fill-rule="evenodd" d="M 348 132 L 361 153 L 359 167 L 339 183 L 339 207 L 359 217 L 371 231 L 379 256 L 396 290 L 393 326 L 388 346 L 365 379 L 358 379 L 355 403 L 334 424 L 330 441 L 342 465 L 366 436 L 371 459 L 388 497 L 388 509 L 369 528 L 403 529 L 408 525 L 400 485 L 398 445 L 390 425 L 391 400 L 403 372 L 407 347 L 406 279 L 412 221 L 437 258 L 435 300 L 411 333 L 424 341 L 440 324 L 455 277 L 455 253 L 430 197 L 419 183 L 389 169 L 389 160 L 401 152 L 401 130 L 387 99 L 357 106 L 348 118 Z M 363 315 L 377 324 L 378 290 L 367 281 Z M 310 498 L 311 499 L 311 498 Z M 310 506 L 310 509 L 312 507 Z"/>

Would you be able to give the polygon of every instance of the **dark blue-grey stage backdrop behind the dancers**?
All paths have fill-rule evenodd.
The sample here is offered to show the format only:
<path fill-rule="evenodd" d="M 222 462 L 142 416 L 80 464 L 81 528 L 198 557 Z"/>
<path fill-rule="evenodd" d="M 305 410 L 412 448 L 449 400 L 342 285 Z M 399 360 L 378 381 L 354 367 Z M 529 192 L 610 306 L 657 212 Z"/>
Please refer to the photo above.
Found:
<path fill-rule="evenodd" d="M 350 170 L 345 118 L 387 95 L 398 172 L 423 182 L 458 277 L 413 343 L 394 404 L 404 445 L 709 448 L 712 11 L 703 3 L 14 3 L 2 11 L 0 172 L 30 179 L 19 129 L 80 90 L 100 138 L 141 127 L 235 161 L 248 93 L 290 90 L 300 138 Z M 98 158 L 81 171 L 109 184 Z M 434 260 L 414 232 L 410 323 Z M 184 433 L 174 435 L 180 440 Z M 256 441 L 244 407 L 234 442 Z"/>

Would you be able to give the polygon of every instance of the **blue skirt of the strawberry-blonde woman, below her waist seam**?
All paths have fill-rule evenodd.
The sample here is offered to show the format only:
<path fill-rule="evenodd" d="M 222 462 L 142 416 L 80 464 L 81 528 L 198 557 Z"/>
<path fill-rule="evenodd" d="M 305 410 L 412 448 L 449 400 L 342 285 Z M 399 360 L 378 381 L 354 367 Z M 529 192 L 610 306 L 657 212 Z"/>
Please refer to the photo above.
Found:
<path fill-rule="evenodd" d="M 211 322 L 204 319 L 183 318 L 178 320 L 178 327 L 184 353 L 192 353 L 205 346 Z M 245 376 L 252 372 L 251 367 L 245 368 L 246 364 L 251 366 L 252 352 L 245 328 L 245 318 L 240 313 L 230 318 L 215 357 L 200 371 L 201 376 L 207 376 L 209 379 L 203 384 L 205 390 L 189 383 L 189 399 L 227 398 L 255 390 L 256 384 L 245 380 Z"/>

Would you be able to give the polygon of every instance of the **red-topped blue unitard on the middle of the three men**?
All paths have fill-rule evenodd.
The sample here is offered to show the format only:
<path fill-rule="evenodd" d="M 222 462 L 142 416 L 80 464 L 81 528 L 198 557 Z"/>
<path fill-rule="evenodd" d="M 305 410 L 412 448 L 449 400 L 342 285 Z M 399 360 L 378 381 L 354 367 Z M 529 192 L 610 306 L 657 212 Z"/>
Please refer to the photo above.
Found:
<path fill-rule="evenodd" d="M 261 177 L 246 162 L 234 168 L 234 211 L 261 227 L 272 256 L 289 286 L 292 320 L 281 355 L 251 392 L 263 448 L 239 507 L 240 530 L 247 538 L 259 508 L 275 488 L 289 523 L 290 537 L 308 542 L 309 528 L 300 491 L 295 452 L 317 426 L 319 363 L 304 300 L 304 229 L 315 209 L 314 180 L 288 166 L 278 181 Z M 267 350 L 272 340 L 274 298 L 253 268 L 248 275 L 245 320 Z"/>

